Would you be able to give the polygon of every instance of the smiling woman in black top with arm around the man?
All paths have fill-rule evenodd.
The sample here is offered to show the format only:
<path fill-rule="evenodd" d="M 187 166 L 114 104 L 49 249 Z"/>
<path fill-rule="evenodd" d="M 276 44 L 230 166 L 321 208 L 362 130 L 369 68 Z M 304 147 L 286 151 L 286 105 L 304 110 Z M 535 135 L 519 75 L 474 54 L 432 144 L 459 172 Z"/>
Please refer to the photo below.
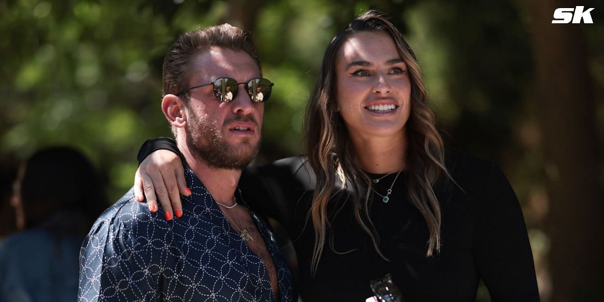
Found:
<path fill-rule="evenodd" d="M 406 301 L 475 301 L 480 279 L 493 301 L 539 300 L 512 188 L 493 164 L 445 152 L 413 51 L 379 13 L 327 47 L 305 129 L 307 158 L 249 168 L 240 181 L 248 204 L 288 231 L 304 301 L 362 301 L 388 273 Z M 160 139 L 140 159 L 157 149 L 177 152 Z M 156 153 L 135 190 L 142 200 L 153 183 L 170 211 L 179 201 L 165 188 L 186 192 L 181 167 Z"/>

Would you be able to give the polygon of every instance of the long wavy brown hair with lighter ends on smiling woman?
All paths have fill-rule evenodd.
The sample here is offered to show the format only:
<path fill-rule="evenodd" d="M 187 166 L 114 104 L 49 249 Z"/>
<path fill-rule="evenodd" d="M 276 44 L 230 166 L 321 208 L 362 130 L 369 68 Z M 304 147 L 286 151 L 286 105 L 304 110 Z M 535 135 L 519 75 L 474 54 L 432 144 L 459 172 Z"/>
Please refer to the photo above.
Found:
<path fill-rule="evenodd" d="M 311 266 L 313 275 L 328 237 L 330 248 L 335 251 L 333 237 L 328 235 L 331 225 L 327 209 L 335 202 L 332 197 L 336 190 L 344 190 L 345 187 L 352 188 L 356 196 L 353 201 L 356 221 L 371 237 L 376 251 L 387 259 L 379 249 L 379 237 L 369 215 L 368 188 L 371 179 L 363 172 L 344 120 L 336 112 L 336 57 L 342 44 L 362 31 L 387 33 L 393 39 L 400 57 L 405 60 L 411 80 L 411 114 L 405 125 L 408 149 L 405 155 L 401 155 L 406 161 L 406 188 L 408 198 L 428 225 L 427 257 L 440 250 L 441 211 L 432 188 L 441 176 L 451 176 L 445 167 L 445 148 L 435 127 L 435 112 L 428 106 L 426 88 L 415 54 L 399 30 L 382 13 L 371 10 L 340 31 L 327 47 L 321 72 L 306 108 L 306 154 L 316 175 L 309 212 L 315 230 Z M 336 188 L 338 179 L 342 184 Z"/>

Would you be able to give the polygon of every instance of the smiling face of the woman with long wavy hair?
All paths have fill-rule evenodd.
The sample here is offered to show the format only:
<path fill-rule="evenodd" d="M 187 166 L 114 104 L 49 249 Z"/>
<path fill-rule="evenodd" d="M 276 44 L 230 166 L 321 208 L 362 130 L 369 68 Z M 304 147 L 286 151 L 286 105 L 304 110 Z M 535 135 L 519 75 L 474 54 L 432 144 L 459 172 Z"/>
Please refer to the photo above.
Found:
<path fill-rule="evenodd" d="M 387 33 L 353 34 L 336 54 L 336 103 L 353 140 L 404 137 L 410 114 L 407 66 Z"/>

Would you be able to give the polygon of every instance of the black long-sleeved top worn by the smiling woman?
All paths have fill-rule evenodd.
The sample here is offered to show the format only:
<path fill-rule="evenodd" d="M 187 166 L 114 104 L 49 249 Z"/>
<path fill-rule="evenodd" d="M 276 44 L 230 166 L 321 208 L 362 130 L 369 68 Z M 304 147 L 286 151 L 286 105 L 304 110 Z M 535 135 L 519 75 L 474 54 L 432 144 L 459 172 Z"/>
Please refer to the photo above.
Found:
<path fill-rule="evenodd" d="M 156 149 L 177 151 L 165 147 L 165 139 L 159 141 L 159 147 L 148 141 L 139 159 Z M 377 254 L 356 222 L 352 191 L 339 191 L 329 214 L 333 249 L 327 242 L 314 277 L 310 267 L 315 231 L 307 213 L 315 177 L 305 158 L 249 167 L 239 185 L 251 208 L 273 217 L 288 231 L 297 254 L 298 289 L 304 302 L 364 301 L 373 295 L 370 280 L 388 273 L 405 301 L 473 302 L 480 279 L 493 302 L 539 301 L 526 226 L 506 177 L 490 162 L 454 150 L 447 153 L 446 164 L 457 185 L 440 182 L 434 188 L 442 209 L 440 252 L 426 256 L 428 226 L 407 198 L 408 175 L 402 172 L 390 201 L 384 203 L 381 196 L 371 194 L 371 221 L 388 260 Z M 385 195 L 395 177 L 396 173 L 382 178 L 374 189 Z"/>

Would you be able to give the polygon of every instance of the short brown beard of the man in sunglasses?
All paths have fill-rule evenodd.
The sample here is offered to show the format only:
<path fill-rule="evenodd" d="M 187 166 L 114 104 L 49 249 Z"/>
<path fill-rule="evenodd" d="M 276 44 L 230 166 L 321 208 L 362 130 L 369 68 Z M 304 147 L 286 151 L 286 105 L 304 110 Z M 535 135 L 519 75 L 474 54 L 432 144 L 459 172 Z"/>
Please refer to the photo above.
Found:
<path fill-rule="evenodd" d="M 235 118 L 225 120 L 226 124 L 233 121 L 248 121 L 256 124 L 256 131 L 260 131 L 258 123 L 251 115 L 238 114 Z M 211 123 L 199 118 L 193 110 L 188 110 L 187 118 L 187 147 L 194 156 L 199 156 L 210 167 L 216 169 L 243 170 L 258 155 L 260 150 L 260 140 L 252 146 L 250 138 L 244 138 L 243 142 L 248 143 L 248 148 L 234 148 L 228 144 L 217 123 Z M 227 130 L 228 131 L 228 130 Z"/>

